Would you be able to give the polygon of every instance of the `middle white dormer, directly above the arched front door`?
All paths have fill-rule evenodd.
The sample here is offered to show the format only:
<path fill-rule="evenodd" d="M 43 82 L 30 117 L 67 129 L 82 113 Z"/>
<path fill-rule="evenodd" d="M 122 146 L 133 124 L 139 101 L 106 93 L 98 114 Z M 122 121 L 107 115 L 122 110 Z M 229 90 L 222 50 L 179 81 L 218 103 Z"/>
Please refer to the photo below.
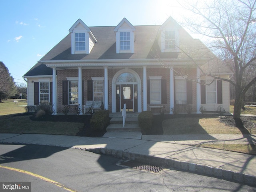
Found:
<path fill-rule="evenodd" d="M 114 28 L 116 33 L 116 53 L 134 53 L 135 27 L 126 19 Z"/>

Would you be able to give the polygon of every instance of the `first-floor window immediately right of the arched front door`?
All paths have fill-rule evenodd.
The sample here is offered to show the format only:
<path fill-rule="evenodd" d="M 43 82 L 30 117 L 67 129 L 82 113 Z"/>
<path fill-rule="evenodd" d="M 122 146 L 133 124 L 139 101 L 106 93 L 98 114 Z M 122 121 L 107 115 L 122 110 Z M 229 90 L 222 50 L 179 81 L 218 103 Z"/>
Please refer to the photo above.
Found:
<path fill-rule="evenodd" d="M 161 80 L 150 80 L 150 104 L 161 104 Z"/>

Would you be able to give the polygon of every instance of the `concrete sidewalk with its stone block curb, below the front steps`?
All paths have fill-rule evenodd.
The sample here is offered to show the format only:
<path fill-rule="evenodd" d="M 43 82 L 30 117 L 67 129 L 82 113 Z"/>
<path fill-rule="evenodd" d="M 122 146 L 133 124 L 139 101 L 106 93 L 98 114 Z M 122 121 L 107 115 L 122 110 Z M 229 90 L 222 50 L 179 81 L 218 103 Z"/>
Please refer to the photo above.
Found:
<path fill-rule="evenodd" d="M 89 138 L 44 134 L 0 134 L 0 143 L 78 148 L 256 186 L 256 156 L 190 146 L 201 143 L 256 144 L 256 135 L 142 136 L 141 132 L 116 132 L 112 135 L 105 134 L 102 138 Z"/>

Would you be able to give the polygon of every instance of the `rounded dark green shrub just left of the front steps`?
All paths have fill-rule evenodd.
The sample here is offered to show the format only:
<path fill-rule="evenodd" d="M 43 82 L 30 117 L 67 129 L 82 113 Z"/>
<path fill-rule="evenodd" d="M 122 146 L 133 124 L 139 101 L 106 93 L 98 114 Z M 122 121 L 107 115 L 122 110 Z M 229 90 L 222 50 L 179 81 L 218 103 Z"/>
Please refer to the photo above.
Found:
<path fill-rule="evenodd" d="M 90 119 L 90 129 L 94 131 L 103 131 L 109 125 L 109 111 L 99 110 L 94 113 Z"/>

